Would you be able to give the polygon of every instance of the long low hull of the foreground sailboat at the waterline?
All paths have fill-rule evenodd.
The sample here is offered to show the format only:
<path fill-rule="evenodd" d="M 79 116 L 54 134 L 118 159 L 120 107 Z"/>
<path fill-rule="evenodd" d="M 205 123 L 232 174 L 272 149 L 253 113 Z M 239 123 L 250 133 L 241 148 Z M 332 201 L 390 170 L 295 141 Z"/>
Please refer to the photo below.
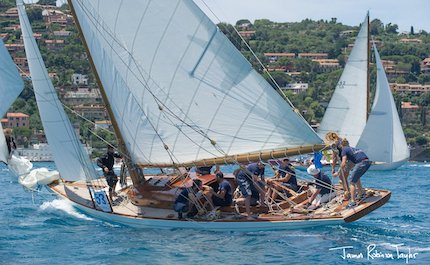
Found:
<path fill-rule="evenodd" d="M 302 214 L 291 216 L 287 215 L 270 215 L 260 214 L 255 220 L 248 221 L 245 218 L 238 219 L 217 219 L 214 221 L 194 219 L 178 220 L 176 213 L 171 209 L 155 209 L 151 207 L 140 207 L 127 204 L 126 207 L 114 206 L 113 213 L 103 212 L 95 209 L 91 198 L 85 195 L 75 193 L 76 186 L 70 190 L 66 187 L 69 184 L 51 184 L 49 188 L 61 198 L 69 200 L 80 211 L 89 216 L 101 219 L 107 222 L 113 222 L 132 226 L 136 228 L 156 228 L 156 229 L 202 229 L 214 231 L 263 231 L 263 230 L 290 230 L 302 229 L 315 226 L 339 225 L 346 222 L 355 221 L 364 215 L 376 210 L 384 205 L 390 198 L 389 191 L 377 191 L 380 193 L 369 199 L 363 205 L 354 209 L 344 210 L 342 205 L 337 208 L 341 211 L 337 214 Z M 81 184 L 80 184 L 81 185 Z M 82 188 L 82 194 L 87 189 Z M 345 202 L 344 202 L 345 203 Z M 134 208 L 133 208 L 134 207 Z"/>

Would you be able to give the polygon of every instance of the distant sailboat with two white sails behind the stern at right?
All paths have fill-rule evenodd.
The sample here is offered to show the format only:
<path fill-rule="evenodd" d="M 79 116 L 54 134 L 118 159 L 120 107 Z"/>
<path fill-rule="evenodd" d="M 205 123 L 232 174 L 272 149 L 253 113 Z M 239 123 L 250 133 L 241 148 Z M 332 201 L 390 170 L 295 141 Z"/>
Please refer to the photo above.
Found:
<path fill-rule="evenodd" d="M 370 102 L 369 15 L 362 23 L 354 47 L 337 83 L 321 125 L 320 137 L 330 131 L 348 139 L 375 161 L 371 170 L 392 170 L 409 159 L 409 149 L 400 124 L 384 68 L 374 46 L 377 84 Z"/>

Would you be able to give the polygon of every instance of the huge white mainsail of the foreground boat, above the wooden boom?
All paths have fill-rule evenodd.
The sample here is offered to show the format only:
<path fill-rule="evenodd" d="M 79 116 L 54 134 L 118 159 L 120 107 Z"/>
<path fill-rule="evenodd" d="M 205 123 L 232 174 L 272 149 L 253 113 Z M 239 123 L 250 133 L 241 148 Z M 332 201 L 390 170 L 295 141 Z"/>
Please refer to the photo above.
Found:
<path fill-rule="evenodd" d="M 192 0 L 70 3 L 134 162 L 321 143 Z"/>

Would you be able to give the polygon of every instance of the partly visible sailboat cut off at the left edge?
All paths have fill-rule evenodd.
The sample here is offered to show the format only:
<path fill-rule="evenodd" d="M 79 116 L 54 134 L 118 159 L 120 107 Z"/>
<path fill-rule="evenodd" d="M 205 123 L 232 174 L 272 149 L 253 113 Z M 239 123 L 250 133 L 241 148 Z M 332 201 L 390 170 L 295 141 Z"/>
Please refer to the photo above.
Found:
<path fill-rule="evenodd" d="M 0 117 L 6 114 L 6 111 L 24 89 L 24 82 L 18 73 L 12 58 L 7 51 L 3 40 L 0 39 Z M 28 173 L 32 164 L 25 158 L 16 154 L 9 155 L 3 127 L 0 124 L 0 162 L 8 165 L 9 171 L 14 176 Z"/>

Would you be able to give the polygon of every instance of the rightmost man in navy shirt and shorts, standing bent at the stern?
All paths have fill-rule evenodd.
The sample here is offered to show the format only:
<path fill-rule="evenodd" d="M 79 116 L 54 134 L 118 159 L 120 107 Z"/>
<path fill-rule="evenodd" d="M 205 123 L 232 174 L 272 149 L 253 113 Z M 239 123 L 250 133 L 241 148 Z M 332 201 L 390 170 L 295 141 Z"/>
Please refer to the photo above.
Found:
<path fill-rule="evenodd" d="M 356 189 L 358 190 L 359 199 L 361 199 L 364 195 L 364 190 L 363 186 L 361 185 L 360 178 L 364 175 L 364 173 L 366 173 L 372 162 L 369 161 L 367 155 L 362 150 L 350 147 L 349 142 L 346 139 L 342 140 L 341 157 L 342 163 L 340 164 L 340 170 L 346 168 L 347 161 L 350 161 L 355 165 L 351 171 L 351 185 L 349 187 L 351 191 L 351 201 L 348 204 L 348 207 L 354 207 L 357 205 L 357 200 L 355 197 Z"/>

